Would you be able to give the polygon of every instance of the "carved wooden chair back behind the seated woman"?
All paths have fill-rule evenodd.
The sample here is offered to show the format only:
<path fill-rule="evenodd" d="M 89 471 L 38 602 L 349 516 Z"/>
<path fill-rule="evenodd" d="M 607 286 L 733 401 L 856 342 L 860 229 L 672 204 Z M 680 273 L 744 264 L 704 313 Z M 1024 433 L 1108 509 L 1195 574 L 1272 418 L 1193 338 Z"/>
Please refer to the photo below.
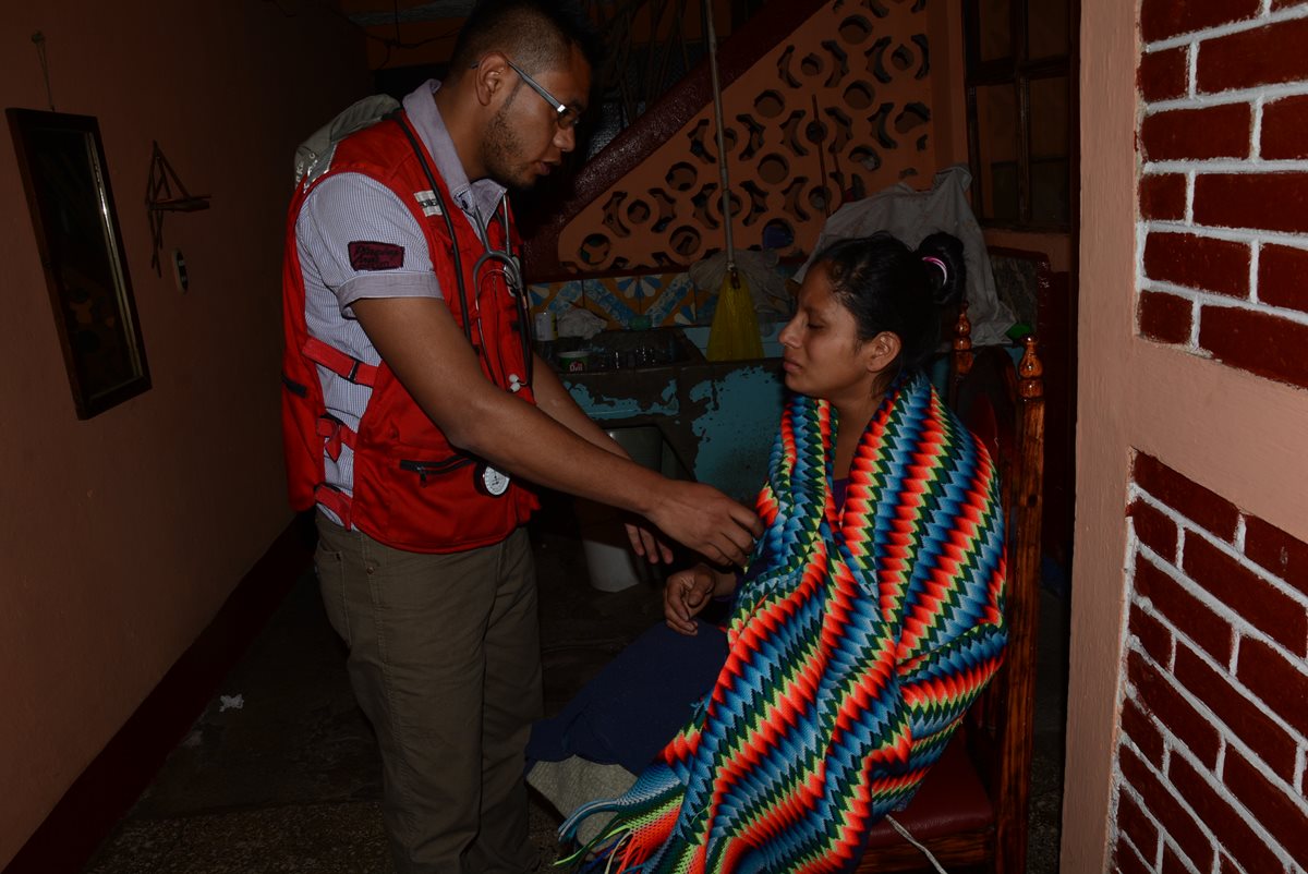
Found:
<path fill-rule="evenodd" d="M 999 468 L 1008 568 L 1005 663 L 968 713 L 968 746 L 995 807 L 997 871 L 1025 870 L 1027 802 L 1040 615 L 1044 480 L 1044 381 L 1036 338 L 1020 360 L 1005 348 L 972 348 L 964 304 L 955 330 L 947 402 L 990 449 Z"/>

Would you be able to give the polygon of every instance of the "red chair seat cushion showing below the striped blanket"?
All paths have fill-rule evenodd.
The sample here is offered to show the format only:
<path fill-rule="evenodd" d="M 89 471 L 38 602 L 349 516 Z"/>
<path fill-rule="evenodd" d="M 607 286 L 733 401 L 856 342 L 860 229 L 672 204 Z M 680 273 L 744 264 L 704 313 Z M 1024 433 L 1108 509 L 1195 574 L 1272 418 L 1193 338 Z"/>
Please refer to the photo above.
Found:
<path fill-rule="evenodd" d="M 984 828 L 994 822 L 994 806 L 968 758 L 967 739 L 959 731 L 944 755 L 913 795 L 908 809 L 891 814 L 917 840 Z M 891 847 L 904 839 L 888 822 L 872 827 L 869 847 Z"/>

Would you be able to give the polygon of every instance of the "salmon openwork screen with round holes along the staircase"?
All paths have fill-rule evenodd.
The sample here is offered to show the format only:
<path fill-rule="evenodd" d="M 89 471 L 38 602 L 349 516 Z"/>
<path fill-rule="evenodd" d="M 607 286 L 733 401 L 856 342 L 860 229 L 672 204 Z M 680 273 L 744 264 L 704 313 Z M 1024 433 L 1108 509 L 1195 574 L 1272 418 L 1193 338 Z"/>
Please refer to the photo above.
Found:
<path fill-rule="evenodd" d="M 842 199 L 929 184 L 925 3 L 833 1 L 723 93 L 734 242 L 807 251 Z M 684 267 L 725 247 L 713 106 L 561 232 L 579 273 Z"/>

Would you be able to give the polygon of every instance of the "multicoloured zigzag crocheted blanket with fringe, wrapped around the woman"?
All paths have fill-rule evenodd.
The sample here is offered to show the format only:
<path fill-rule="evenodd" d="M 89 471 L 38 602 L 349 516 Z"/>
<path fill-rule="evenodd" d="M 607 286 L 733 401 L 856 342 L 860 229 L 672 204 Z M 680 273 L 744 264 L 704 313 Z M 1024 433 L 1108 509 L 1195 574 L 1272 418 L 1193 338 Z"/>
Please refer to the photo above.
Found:
<path fill-rule="evenodd" d="M 713 692 L 570 860 L 586 871 L 850 871 L 1002 661 L 1005 538 L 981 444 L 921 374 L 863 432 L 832 501 L 836 411 L 794 396 L 766 533 Z"/>

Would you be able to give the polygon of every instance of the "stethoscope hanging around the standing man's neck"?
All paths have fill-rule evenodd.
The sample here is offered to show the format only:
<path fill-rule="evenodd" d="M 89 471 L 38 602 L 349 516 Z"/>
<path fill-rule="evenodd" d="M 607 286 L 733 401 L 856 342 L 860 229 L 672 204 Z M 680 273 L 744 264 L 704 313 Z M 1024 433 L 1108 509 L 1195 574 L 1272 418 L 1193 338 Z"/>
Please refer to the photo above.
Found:
<path fill-rule="evenodd" d="M 409 145 L 413 147 L 413 153 L 417 156 L 419 165 L 422 167 L 422 173 L 426 175 L 426 181 L 432 186 L 432 198 L 436 200 L 436 208 L 441 217 L 445 218 L 445 228 L 450 234 L 450 251 L 454 256 L 454 277 L 458 285 L 459 293 L 459 309 L 463 313 L 463 336 L 467 338 L 468 344 L 476 351 L 485 361 L 487 372 L 494 378 L 494 366 L 492 366 L 489 352 L 487 351 L 485 334 L 481 330 L 481 319 L 477 318 L 477 334 L 479 338 L 475 341 L 472 339 L 472 310 L 468 306 L 468 288 L 467 280 L 463 276 L 463 263 L 459 255 L 458 237 L 454 234 L 454 220 L 450 217 L 450 211 L 446 208 L 445 198 L 441 195 L 441 186 L 436 181 L 436 174 L 432 173 L 430 165 L 428 165 L 426 156 L 422 153 L 422 147 L 417 141 L 413 131 L 409 130 L 408 123 L 404 120 L 403 114 L 396 111 L 392 118 L 404 131 L 404 136 L 408 137 Z M 522 391 L 523 385 L 531 385 L 532 373 L 532 338 L 531 338 L 531 311 L 527 307 L 527 287 L 522 281 L 522 266 L 518 262 L 518 256 L 513 251 L 513 237 L 509 230 L 509 200 L 508 198 L 500 205 L 498 209 L 500 222 L 504 226 L 504 241 L 505 251 L 500 251 L 490 246 L 490 236 L 483 229 L 477 228 L 477 233 L 481 237 L 483 245 L 487 251 L 477 258 L 476 263 L 472 264 L 472 281 L 480 285 L 487 279 L 500 276 L 505 284 L 505 289 L 509 292 L 509 297 L 513 298 L 518 310 L 518 340 L 522 344 L 522 361 L 526 369 L 526 382 L 518 377 L 517 373 L 508 373 L 508 368 L 504 364 L 504 356 L 500 357 L 500 372 L 504 387 L 509 391 L 517 394 Z M 476 224 L 476 222 L 475 222 Z M 494 267 L 483 275 L 483 268 L 487 264 L 493 264 Z M 480 311 L 480 294 L 473 297 L 473 304 Z M 490 466 L 485 459 L 477 461 L 476 479 L 473 480 L 477 489 L 492 497 L 500 497 L 509 491 L 509 475 L 501 470 Z"/>

